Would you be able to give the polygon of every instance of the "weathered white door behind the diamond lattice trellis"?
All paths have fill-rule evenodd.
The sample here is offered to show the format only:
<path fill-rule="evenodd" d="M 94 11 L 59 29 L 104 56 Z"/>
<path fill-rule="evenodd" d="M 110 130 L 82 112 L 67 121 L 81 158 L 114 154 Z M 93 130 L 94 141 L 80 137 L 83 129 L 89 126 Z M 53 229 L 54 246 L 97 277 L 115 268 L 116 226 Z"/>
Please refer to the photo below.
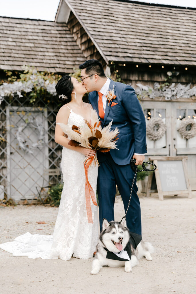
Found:
<path fill-rule="evenodd" d="M 39 122 L 43 126 L 44 136 L 40 144 L 31 149 L 32 154 L 19 148 L 16 132 L 27 120 Z M 8 154 L 7 154 L 7 193 L 15 201 L 33 199 L 36 186 L 48 185 L 48 176 L 44 176 L 44 169 L 48 168 L 48 136 L 47 110 L 38 108 L 7 108 Z M 40 132 L 31 124 L 27 124 L 21 136 L 25 144 L 32 146 L 40 141 Z"/>

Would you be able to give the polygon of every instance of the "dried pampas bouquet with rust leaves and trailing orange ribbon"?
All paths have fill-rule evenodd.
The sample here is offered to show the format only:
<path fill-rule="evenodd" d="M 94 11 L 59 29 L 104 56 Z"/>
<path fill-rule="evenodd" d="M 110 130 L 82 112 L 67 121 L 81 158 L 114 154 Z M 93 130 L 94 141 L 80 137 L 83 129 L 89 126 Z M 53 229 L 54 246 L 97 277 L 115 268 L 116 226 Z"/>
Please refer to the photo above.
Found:
<path fill-rule="evenodd" d="M 118 140 L 117 135 L 119 133 L 118 128 L 115 128 L 115 130 L 111 130 L 112 121 L 110 121 L 108 126 L 102 129 L 96 110 L 92 111 L 91 123 L 84 120 L 82 126 L 68 126 L 64 123 L 57 124 L 61 127 L 63 132 L 71 138 L 68 143 L 68 145 L 70 146 L 82 146 L 88 149 L 92 149 L 94 151 L 101 152 L 108 152 L 110 151 L 110 149 L 114 148 L 118 149 L 116 147 L 116 140 Z M 94 205 L 97 206 L 97 203 L 93 188 L 88 181 L 88 168 L 89 166 L 91 166 L 91 164 L 98 164 L 99 166 L 99 163 L 96 156 L 86 157 L 83 162 L 86 176 L 86 211 L 88 216 L 88 223 L 93 223 L 91 199 Z"/>

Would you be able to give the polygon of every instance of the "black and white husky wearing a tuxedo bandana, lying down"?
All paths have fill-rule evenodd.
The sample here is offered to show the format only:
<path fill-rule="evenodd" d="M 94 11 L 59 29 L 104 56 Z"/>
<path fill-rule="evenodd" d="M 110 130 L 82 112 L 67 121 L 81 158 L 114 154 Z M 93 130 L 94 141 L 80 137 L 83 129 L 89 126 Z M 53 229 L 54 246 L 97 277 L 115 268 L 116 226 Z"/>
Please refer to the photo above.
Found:
<path fill-rule="evenodd" d="M 135 265 L 139 264 L 140 258 L 152 260 L 150 253 L 153 251 L 153 246 L 148 242 L 144 243 L 141 235 L 129 232 L 125 217 L 120 223 L 108 222 L 104 218 L 91 274 L 98 274 L 100 268 L 106 265 L 125 266 L 125 272 L 129 273 Z"/>

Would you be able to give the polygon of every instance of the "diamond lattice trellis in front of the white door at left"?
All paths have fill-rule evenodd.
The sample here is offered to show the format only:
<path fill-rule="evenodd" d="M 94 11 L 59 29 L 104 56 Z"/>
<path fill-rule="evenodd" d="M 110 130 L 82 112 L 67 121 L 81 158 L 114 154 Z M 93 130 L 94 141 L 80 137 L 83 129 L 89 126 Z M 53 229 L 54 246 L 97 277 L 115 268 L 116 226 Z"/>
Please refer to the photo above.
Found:
<path fill-rule="evenodd" d="M 37 98 L 31 105 L 29 98 L 17 95 L 1 103 L 0 202 L 32 203 L 41 187 L 62 181 L 56 173 L 61 170 L 62 147 L 54 141 L 60 106 L 56 97 Z"/>

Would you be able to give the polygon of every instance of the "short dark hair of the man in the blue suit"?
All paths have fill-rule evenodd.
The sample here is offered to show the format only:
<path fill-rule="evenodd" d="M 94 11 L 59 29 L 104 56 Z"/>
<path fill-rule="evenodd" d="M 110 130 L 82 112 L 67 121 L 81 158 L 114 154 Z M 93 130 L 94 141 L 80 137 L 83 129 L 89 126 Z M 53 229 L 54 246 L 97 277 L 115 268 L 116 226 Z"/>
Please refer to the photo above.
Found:
<path fill-rule="evenodd" d="M 86 69 L 86 74 L 90 76 L 91 74 L 97 74 L 98 76 L 105 78 L 103 65 L 97 59 L 90 59 L 85 61 L 79 66 L 79 69 Z"/>

